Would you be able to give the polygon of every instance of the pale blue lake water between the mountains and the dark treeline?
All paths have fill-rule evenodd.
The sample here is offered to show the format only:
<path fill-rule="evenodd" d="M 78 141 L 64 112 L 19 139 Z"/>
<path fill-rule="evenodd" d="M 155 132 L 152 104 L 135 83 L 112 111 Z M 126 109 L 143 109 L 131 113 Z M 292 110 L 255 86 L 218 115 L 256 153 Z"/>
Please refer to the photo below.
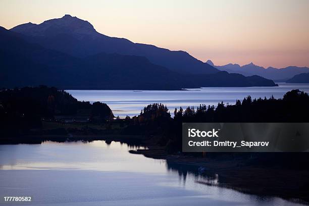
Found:
<path fill-rule="evenodd" d="M 292 89 L 309 92 L 309 84 L 278 83 L 279 87 L 205 87 L 186 91 L 147 91 L 147 90 L 67 90 L 78 100 L 102 101 L 110 106 L 115 116 L 134 116 L 148 104 L 163 103 L 173 113 L 177 107 L 187 108 L 200 104 L 217 105 L 218 102 L 235 104 L 236 99 L 247 95 L 252 98 L 274 95 L 282 98 Z"/>

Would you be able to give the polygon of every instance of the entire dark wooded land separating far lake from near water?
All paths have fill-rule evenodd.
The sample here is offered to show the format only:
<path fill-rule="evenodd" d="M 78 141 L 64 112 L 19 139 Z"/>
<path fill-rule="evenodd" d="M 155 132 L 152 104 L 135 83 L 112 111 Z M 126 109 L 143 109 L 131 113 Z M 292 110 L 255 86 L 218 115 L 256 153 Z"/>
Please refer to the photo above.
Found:
<path fill-rule="evenodd" d="M 105 140 L 143 145 L 148 149 L 130 152 L 165 159 L 181 174 L 219 174 L 218 186 L 309 202 L 308 152 L 181 151 L 183 122 L 306 122 L 308 105 L 307 93 L 291 90 L 280 99 L 247 96 L 235 105 L 176 108 L 174 118 L 165 105 L 155 103 L 138 116 L 120 119 L 104 103 L 78 101 L 55 87 L 2 89 L 0 143 Z"/>

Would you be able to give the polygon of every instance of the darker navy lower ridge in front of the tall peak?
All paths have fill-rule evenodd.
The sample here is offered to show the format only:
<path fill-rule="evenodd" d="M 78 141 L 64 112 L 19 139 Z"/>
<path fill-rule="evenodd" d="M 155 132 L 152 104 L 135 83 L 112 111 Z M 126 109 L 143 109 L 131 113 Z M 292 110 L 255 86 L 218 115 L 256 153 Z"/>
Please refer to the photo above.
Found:
<path fill-rule="evenodd" d="M 100 53 L 72 57 L 29 43 L 21 34 L 2 27 L 0 43 L 0 87 L 176 90 L 202 86 L 275 86 L 272 80 L 227 72 L 180 74 L 139 56 Z"/>

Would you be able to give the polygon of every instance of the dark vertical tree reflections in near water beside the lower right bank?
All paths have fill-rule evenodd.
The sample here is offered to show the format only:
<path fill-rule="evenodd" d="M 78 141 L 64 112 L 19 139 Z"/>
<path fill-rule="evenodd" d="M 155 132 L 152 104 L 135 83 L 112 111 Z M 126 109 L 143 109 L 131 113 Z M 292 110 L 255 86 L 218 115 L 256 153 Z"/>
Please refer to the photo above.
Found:
<path fill-rule="evenodd" d="M 177 163 L 166 162 L 167 170 L 169 172 L 177 173 L 179 179 L 183 180 L 185 184 L 187 175 L 194 176 L 194 182 L 206 185 L 218 185 L 219 176 L 218 174 L 211 174 L 205 172 L 205 168 L 192 165 L 183 165 Z"/>

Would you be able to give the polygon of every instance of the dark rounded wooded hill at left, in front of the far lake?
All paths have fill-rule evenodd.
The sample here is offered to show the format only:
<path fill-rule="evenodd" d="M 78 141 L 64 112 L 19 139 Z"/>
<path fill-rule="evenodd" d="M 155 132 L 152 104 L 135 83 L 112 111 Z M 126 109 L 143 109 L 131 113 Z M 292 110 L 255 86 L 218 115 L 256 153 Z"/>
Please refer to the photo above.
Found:
<path fill-rule="evenodd" d="M 44 119 L 54 121 L 55 116 L 70 116 L 73 119 L 79 111 L 86 112 L 85 118 L 89 121 L 97 117 L 106 122 L 114 117 L 106 104 L 78 101 L 68 92 L 55 87 L 0 90 L 0 141 L 1 138 L 19 137 L 30 129 L 41 128 Z"/>

